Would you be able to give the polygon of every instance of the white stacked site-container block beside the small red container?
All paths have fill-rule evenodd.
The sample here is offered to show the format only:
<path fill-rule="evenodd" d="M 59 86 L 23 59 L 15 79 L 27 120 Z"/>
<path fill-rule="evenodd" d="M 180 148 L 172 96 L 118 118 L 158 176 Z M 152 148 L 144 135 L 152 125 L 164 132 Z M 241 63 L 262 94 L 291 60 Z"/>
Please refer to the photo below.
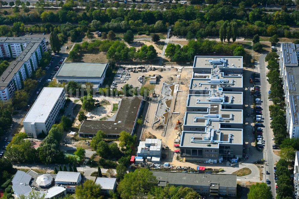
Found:
<path fill-rule="evenodd" d="M 147 157 L 160 157 L 162 151 L 162 139 L 145 139 L 140 141 L 137 156 Z"/>

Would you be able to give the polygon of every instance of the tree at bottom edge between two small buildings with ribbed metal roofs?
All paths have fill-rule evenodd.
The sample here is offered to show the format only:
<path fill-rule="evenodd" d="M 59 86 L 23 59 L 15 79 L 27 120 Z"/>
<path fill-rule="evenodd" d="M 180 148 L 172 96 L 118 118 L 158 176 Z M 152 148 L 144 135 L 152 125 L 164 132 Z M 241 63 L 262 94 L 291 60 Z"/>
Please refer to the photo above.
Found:
<path fill-rule="evenodd" d="M 83 185 L 78 185 L 75 190 L 76 198 L 97 199 L 101 196 L 101 186 L 93 180 L 86 180 Z"/>

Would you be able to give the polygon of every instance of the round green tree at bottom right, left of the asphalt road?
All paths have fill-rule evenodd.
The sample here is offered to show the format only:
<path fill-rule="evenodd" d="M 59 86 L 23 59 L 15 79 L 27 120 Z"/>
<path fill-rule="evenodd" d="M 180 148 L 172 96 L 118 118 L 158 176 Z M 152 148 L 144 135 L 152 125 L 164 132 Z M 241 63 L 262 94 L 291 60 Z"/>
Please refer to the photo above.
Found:
<path fill-rule="evenodd" d="M 256 183 L 252 185 L 247 194 L 248 199 L 263 198 L 269 199 L 272 198 L 271 189 L 267 186 L 266 183 Z"/>

